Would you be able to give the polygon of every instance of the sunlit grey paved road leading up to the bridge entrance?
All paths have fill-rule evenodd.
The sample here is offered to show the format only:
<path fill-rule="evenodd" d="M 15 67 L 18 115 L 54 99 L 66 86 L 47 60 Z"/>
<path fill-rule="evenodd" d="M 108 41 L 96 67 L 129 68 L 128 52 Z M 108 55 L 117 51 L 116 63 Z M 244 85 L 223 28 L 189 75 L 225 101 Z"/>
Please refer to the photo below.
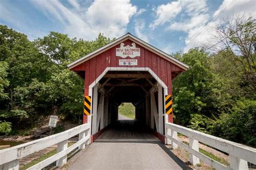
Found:
<path fill-rule="evenodd" d="M 143 139 L 95 141 L 75 157 L 68 169 L 187 169 L 160 141 Z"/>

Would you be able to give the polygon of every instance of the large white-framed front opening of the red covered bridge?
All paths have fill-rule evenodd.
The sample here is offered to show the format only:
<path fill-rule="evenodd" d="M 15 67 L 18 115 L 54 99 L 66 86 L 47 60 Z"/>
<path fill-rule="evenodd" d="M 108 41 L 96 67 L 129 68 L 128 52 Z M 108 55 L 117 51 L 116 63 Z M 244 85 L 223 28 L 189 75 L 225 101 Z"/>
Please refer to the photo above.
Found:
<path fill-rule="evenodd" d="M 101 138 L 152 139 L 152 130 L 164 135 L 164 88 L 149 72 L 109 71 L 92 91 L 93 136 L 105 128 L 111 132 Z"/>

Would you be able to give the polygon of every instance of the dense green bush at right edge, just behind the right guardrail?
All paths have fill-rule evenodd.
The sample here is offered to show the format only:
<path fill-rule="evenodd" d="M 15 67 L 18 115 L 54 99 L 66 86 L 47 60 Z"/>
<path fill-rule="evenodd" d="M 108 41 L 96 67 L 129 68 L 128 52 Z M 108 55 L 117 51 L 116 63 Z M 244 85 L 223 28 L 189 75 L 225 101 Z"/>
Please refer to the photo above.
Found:
<path fill-rule="evenodd" d="M 238 143 L 256 146 L 256 101 L 240 100 L 214 122 L 212 134 Z"/>

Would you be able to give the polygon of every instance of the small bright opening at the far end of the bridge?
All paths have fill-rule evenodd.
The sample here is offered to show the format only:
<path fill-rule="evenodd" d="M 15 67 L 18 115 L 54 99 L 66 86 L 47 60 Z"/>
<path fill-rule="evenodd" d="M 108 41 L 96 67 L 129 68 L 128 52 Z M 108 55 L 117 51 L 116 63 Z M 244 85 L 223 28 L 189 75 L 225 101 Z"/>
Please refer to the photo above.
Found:
<path fill-rule="evenodd" d="M 134 120 L 135 110 L 132 103 L 121 103 L 118 107 L 118 120 Z"/>

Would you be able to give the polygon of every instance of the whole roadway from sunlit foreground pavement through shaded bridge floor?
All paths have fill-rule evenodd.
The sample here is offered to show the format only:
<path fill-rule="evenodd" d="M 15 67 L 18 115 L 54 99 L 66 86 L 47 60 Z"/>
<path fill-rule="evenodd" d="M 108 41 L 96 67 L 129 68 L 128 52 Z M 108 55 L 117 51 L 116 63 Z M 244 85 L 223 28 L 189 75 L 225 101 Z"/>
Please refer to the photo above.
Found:
<path fill-rule="evenodd" d="M 68 169 L 188 169 L 134 121 L 118 121 L 73 159 Z"/>

